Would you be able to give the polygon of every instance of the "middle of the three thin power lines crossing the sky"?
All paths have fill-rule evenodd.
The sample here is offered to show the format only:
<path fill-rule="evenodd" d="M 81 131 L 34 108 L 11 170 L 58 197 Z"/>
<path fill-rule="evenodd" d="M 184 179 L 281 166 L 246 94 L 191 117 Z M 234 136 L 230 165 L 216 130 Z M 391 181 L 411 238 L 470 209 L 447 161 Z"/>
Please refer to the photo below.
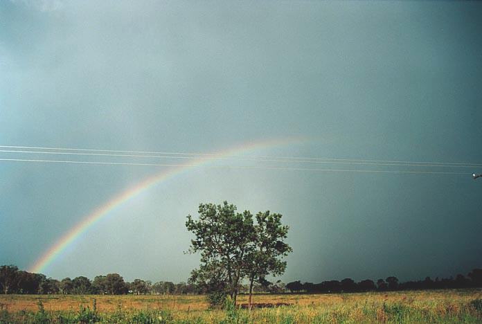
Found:
<path fill-rule="evenodd" d="M 443 164 L 416 164 L 416 163 L 378 163 L 378 162 L 356 162 L 356 161 L 305 161 L 286 159 L 241 159 L 224 156 L 168 156 L 168 155 L 139 155 L 139 154 L 109 154 L 109 153 L 78 153 L 78 152 L 48 152 L 48 151 L 26 151 L 26 150 L 0 150 L 0 152 L 21 153 L 21 154 L 54 154 L 54 155 L 80 155 L 80 156 L 115 156 L 115 157 L 142 157 L 156 159 L 195 159 L 195 160 L 220 160 L 220 161 L 257 161 L 257 162 L 282 162 L 282 163 L 316 163 L 316 164 L 348 164 L 348 165 L 400 165 L 400 166 L 421 166 L 435 168 L 474 168 L 478 165 L 443 165 Z"/>

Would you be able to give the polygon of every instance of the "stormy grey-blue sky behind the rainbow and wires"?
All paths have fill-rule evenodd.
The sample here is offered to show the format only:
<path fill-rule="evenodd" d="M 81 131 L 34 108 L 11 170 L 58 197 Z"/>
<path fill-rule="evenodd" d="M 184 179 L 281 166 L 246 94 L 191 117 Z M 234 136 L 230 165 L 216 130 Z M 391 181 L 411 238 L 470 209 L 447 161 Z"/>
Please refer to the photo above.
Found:
<path fill-rule="evenodd" d="M 0 145 L 213 153 L 283 143 L 236 151 L 276 161 L 209 164 L 256 169 L 200 165 L 143 190 L 42 272 L 186 281 L 199 264 L 184 253 L 186 216 L 224 200 L 283 214 L 293 248 L 284 282 L 482 267 L 482 180 L 471 177 L 482 173 L 481 15 L 470 1 L 1 1 Z M 0 264 L 30 269 L 96 208 L 169 168 L 0 161 Z M 294 170 L 307 168 L 355 171 Z"/>

